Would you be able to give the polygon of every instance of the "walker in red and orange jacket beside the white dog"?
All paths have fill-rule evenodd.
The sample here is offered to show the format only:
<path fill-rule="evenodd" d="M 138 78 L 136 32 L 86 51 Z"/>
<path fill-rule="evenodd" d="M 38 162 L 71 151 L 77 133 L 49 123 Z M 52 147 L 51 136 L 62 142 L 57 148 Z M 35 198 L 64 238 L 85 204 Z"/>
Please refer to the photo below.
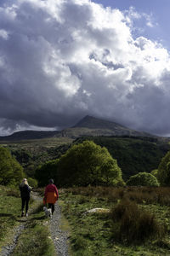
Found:
<path fill-rule="evenodd" d="M 59 199 L 57 187 L 54 185 L 54 180 L 51 178 L 49 184 L 45 189 L 43 201 L 48 203 L 48 208 L 51 208 L 52 214 L 54 213 L 54 204 Z"/>

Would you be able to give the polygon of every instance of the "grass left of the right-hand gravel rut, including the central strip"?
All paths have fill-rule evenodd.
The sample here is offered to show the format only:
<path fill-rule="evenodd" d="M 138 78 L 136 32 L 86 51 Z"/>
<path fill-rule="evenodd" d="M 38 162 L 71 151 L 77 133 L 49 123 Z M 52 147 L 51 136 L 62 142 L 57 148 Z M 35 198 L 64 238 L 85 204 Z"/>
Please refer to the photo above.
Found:
<path fill-rule="evenodd" d="M 42 212 L 42 202 L 31 200 L 29 218 L 20 218 L 20 208 L 19 191 L 0 186 L 0 247 L 10 243 L 15 226 L 25 223 L 26 228 L 21 233 L 12 255 L 54 256 L 54 244 L 49 234 L 48 220 Z"/>

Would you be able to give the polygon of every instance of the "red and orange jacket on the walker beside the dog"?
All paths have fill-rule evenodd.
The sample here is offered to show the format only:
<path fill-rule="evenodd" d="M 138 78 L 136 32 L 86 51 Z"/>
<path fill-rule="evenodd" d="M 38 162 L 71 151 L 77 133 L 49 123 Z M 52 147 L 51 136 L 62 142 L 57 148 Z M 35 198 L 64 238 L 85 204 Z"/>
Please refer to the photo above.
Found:
<path fill-rule="evenodd" d="M 59 193 L 54 184 L 48 184 L 45 189 L 44 201 L 49 204 L 54 204 L 59 199 Z"/>

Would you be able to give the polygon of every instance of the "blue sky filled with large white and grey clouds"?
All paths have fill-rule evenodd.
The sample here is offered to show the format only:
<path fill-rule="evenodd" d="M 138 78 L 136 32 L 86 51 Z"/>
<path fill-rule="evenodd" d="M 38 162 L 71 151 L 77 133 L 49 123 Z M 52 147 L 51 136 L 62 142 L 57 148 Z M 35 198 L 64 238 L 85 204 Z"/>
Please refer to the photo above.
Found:
<path fill-rule="evenodd" d="M 169 0 L 1 0 L 0 136 L 85 115 L 170 136 Z"/>

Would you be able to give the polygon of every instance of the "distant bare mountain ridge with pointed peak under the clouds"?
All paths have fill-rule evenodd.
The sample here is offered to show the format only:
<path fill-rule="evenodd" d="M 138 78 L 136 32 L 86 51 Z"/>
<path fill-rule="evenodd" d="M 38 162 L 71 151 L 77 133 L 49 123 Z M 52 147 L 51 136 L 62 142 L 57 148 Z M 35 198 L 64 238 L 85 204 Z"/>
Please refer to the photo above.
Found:
<path fill-rule="evenodd" d="M 135 131 L 115 122 L 97 119 L 87 115 L 81 119 L 77 125 L 62 131 L 18 131 L 10 136 L 0 137 L 0 141 L 14 142 L 47 137 L 69 137 L 75 139 L 82 136 L 156 137 L 144 131 Z"/>

